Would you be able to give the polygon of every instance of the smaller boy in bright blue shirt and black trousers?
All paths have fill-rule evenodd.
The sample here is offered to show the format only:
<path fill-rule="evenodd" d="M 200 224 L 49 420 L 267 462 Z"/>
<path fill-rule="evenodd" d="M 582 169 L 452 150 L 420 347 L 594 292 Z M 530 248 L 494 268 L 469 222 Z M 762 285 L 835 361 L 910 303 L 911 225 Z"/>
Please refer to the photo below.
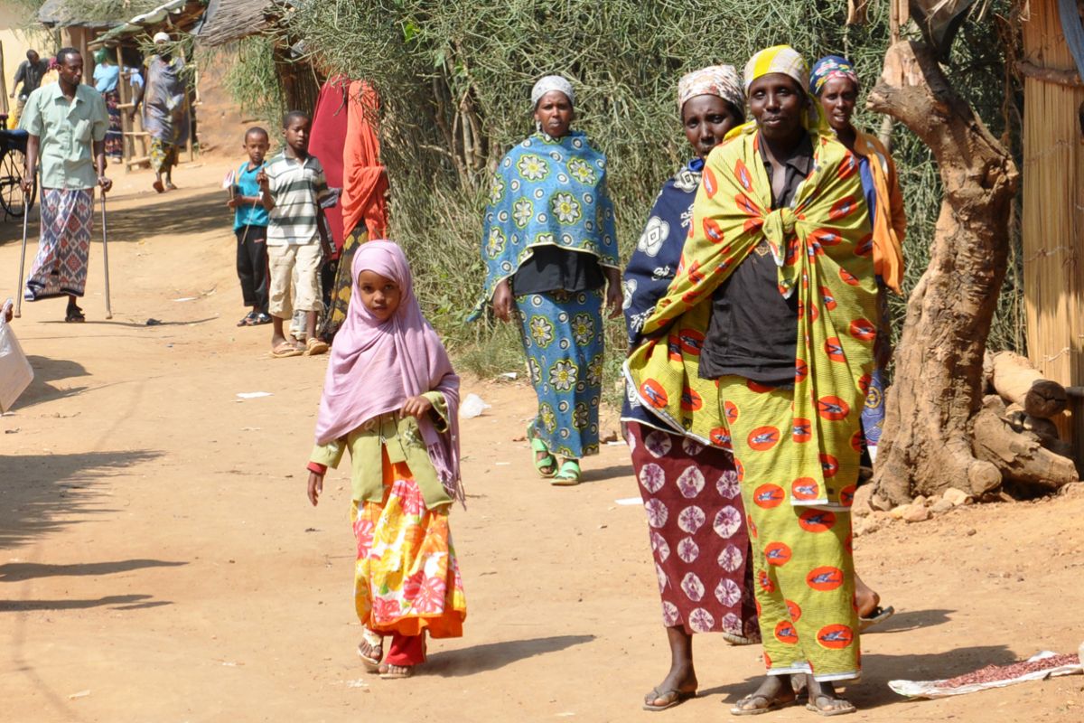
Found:
<path fill-rule="evenodd" d="M 234 209 L 233 233 L 237 236 L 237 279 L 245 306 L 251 307 L 237 326 L 270 324 L 268 315 L 268 210 L 263 208 L 256 177 L 263 167 L 270 138 L 258 126 L 245 132 L 248 163 L 241 164 L 234 177 L 234 193 L 227 206 Z"/>

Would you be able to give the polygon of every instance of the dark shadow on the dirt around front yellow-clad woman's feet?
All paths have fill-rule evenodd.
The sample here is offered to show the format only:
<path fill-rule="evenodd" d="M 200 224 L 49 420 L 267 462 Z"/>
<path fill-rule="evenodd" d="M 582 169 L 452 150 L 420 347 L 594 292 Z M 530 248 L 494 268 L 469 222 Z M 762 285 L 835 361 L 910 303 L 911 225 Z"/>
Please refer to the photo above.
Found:
<path fill-rule="evenodd" d="M 862 681 L 842 688 L 842 695 L 860 711 L 880 708 L 892 703 L 915 703 L 888 686 L 889 681 L 913 680 L 933 681 L 963 675 L 990 664 L 1004 666 L 1016 662 L 1016 655 L 1005 645 L 980 645 L 956 648 L 943 653 L 905 655 L 863 655 Z M 762 675 L 747 677 L 743 683 L 730 683 L 713 688 L 700 689 L 700 695 L 722 695 L 727 706 L 743 696 L 749 695 L 763 682 Z M 804 701 L 804 697 L 799 698 Z"/>

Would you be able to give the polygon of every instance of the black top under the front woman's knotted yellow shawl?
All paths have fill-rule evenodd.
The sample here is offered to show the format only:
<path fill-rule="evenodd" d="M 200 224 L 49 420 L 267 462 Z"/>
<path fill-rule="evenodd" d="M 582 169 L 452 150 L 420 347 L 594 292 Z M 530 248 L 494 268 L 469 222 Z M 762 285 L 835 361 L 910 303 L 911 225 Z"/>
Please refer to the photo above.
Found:
<path fill-rule="evenodd" d="M 763 145 L 760 154 L 771 181 L 772 164 Z M 813 143 L 808 134 L 784 164 L 783 194 L 775 198 L 773 190 L 773 209 L 789 205 L 798 184 L 813 169 Z M 797 341 L 798 295 L 785 299 L 779 294 L 778 267 L 767 241 L 761 240 L 712 296 L 700 377 L 736 374 L 761 384 L 791 386 Z"/>

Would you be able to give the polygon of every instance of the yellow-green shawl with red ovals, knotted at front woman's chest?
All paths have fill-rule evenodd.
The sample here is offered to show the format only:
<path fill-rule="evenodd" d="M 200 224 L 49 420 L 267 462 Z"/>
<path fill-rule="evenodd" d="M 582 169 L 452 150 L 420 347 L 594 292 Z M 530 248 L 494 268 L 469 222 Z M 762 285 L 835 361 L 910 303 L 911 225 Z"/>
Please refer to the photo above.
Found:
<path fill-rule="evenodd" d="M 796 444 L 793 469 L 779 475 L 813 477 L 826 490 L 823 473 L 831 469 L 833 451 L 862 440 L 876 283 L 857 164 L 825 127 L 814 127 L 810 134 L 813 170 L 791 206 L 775 210 L 756 124 L 735 129 L 711 153 L 678 275 L 644 323 L 645 341 L 627 360 L 625 373 L 641 403 L 674 430 L 728 449 L 719 385 L 695 376 L 695 370 L 712 294 L 766 238 L 778 266 L 779 293 L 798 295 L 799 314 L 793 425 L 795 441 L 803 443 Z"/>

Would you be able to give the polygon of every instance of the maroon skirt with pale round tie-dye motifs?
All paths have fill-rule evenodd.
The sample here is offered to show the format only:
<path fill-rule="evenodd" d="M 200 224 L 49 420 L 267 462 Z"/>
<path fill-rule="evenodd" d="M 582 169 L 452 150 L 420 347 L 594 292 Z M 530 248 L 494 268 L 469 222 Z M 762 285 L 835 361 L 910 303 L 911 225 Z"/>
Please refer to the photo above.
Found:
<path fill-rule="evenodd" d="M 662 624 L 760 642 L 741 486 L 730 452 L 629 423 Z"/>

